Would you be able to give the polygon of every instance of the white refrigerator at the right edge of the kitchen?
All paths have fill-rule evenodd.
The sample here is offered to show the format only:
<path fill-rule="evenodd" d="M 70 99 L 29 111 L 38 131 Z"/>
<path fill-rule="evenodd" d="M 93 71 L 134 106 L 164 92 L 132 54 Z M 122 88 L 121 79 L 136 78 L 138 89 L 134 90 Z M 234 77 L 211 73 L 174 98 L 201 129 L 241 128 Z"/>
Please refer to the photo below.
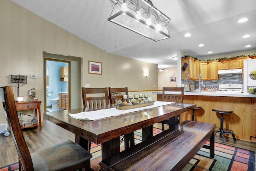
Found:
<path fill-rule="evenodd" d="M 249 76 L 252 70 L 256 70 L 256 59 L 244 60 L 244 93 L 248 93 L 247 86 L 256 87 L 256 80 Z"/>

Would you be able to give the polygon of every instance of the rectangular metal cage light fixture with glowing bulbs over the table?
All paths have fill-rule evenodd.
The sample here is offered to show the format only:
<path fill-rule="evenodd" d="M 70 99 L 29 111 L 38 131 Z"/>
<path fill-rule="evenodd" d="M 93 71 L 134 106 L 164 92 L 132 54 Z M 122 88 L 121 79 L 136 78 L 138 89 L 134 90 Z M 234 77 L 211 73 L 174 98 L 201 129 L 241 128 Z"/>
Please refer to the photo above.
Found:
<path fill-rule="evenodd" d="M 108 21 L 132 30 L 154 41 L 170 38 L 170 18 L 156 9 L 150 0 L 110 0 Z"/>

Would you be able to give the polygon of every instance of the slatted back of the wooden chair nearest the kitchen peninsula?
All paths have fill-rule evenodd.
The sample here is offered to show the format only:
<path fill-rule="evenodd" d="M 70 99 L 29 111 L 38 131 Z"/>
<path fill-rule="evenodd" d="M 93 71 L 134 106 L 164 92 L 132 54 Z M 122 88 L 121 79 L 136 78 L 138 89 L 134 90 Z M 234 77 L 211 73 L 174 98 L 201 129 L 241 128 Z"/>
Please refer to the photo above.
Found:
<path fill-rule="evenodd" d="M 176 93 L 170 94 L 170 93 L 167 93 L 166 91 L 173 91 Z M 183 95 L 184 95 L 184 87 L 163 87 L 162 101 L 183 103 Z"/>

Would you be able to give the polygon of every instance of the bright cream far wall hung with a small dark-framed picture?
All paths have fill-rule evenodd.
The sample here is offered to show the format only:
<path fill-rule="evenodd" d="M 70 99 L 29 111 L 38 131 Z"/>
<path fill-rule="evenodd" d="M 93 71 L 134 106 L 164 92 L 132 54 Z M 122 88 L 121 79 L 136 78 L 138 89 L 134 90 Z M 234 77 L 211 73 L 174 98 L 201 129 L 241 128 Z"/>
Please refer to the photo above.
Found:
<path fill-rule="evenodd" d="M 170 77 L 175 77 L 176 82 L 170 82 Z M 165 68 L 163 72 L 158 70 L 158 89 L 163 87 L 176 87 L 177 85 L 177 67 Z"/>

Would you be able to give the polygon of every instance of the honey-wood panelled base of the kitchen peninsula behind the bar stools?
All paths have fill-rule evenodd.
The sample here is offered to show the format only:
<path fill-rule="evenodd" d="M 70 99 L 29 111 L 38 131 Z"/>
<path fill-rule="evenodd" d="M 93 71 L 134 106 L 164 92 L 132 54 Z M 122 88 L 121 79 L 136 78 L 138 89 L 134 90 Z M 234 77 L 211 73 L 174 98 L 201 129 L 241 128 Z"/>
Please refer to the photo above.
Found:
<path fill-rule="evenodd" d="M 184 95 L 183 103 L 193 103 L 202 106 L 196 110 L 195 121 L 214 123 L 220 126 L 220 116 L 212 108 L 230 109 L 232 114 L 225 116 L 224 127 L 234 131 L 237 139 L 256 141 L 256 98 Z M 192 120 L 192 110 L 182 113 L 181 122 Z M 226 135 L 228 136 L 228 135 Z M 229 135 L 231 137 L 231 135 Z"/>

